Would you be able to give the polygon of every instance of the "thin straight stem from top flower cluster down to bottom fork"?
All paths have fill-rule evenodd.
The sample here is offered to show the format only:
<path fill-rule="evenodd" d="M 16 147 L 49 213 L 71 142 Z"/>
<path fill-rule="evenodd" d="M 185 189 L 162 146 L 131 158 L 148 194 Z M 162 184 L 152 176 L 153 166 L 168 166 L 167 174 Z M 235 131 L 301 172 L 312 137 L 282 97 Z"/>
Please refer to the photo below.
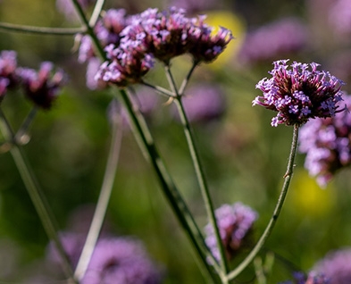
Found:
<path fill-rule="evenodd" d="M 192 70 L 194 70 L 195 66 L 196 65 L 194 64 Z M 182 125 L 184 128 L 184 134 L 185 134 L 185 137 L 186 137 L 187 142 L 188 142 L 190 156 L 191 156 L 192 162 L 194 164 L 194 169 L 196 171 L 196 178 L 197 178 L 197 181 L 198 181 L 198 184 L 199 184 L 199 187 L 201 190 L 201 194 L 202 194 L 204 202 L 205 202 L 206 213 L 207 213 L 207 216 L 208 216 L 208 219 L 209 219 L 211 225 L 213 226 L 215 238 L 217 239 L 217 246 L 219 247 L 220 255 L 221 255 L 221 269 L 224 272 L 224 274 L 227 274 L 229 271 L 228 262 L 227 262 L 227 258 L 225 255 L 223 244 L 221 242 L 220 230 L 218 229 L 217 221 L 215 218 L 212 199 L 211 199 L 210 192 L 209 192 L 209 189 L 207 186 L 207 182 L 205 180 L 205 173 L 204 173 L 203 167 L 200 163 L 200 158 L 199 158 L 199 155 L 197 152 L 195 139 L 193 136 L 193 130 L 191 129 L 190 123 L 188 121 L 188 116 L 185 113 L 184 106 L 181 102 L 182 97 L 180 96 L 180 93 L 177 89 L 177 86 L 176 86 L 175 81 L 173 79 L 173 76 L 171 74 L 171 69 L 170 69 L 169 64 L 165 65 L 165 71 L 166 71 L 167 79 L 168 79 L 170 86 L 171 86 L 171 90 L 177 95 L 174 99 L 174 103 L 177 105 L 178 112 L 180 113 L 180 121 L 182 122 Z M 190 75 L 191 75 L 191 72 L 189 72 Z M 185 84 L 183 84 L 183 85 L 185 86 Z M 183 87 L 183 88 L 185 88 L 185 87 Z M 228 281 L 224 280 L 223 283 L 228 283 Z"/>

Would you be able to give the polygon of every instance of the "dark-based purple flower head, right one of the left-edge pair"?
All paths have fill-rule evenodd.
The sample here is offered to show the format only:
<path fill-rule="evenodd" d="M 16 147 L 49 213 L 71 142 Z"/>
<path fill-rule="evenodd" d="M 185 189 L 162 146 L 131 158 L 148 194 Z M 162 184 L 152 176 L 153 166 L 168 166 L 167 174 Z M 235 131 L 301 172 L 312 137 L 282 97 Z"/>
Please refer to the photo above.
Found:
<path fill-rule="evenodd" d="M 39 71 L 29 68 L 19 70 L 26 96 L 39 107 L 49 109 L 66 82 L 62 70 L 54 71 L 54 64 L 41 63 Z"/>

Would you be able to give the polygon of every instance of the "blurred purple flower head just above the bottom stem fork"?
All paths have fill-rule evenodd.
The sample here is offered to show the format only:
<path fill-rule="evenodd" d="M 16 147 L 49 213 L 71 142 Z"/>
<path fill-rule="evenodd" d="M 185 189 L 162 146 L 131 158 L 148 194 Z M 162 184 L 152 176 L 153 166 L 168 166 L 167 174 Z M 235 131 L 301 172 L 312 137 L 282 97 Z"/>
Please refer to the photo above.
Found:
<path fill-rule="evenodd" d="M 227 257 L 232 259 L 239 249 L 246 245 L 258 214 L 249 206 L 238 202 L 233 205 L 221 205 L 216 209 L 215 216 L 225 252 Z M 206 245 L 214 258 L 219 260 L 220 251 L 211 224 L 205 226 L 205 235 Z"/>

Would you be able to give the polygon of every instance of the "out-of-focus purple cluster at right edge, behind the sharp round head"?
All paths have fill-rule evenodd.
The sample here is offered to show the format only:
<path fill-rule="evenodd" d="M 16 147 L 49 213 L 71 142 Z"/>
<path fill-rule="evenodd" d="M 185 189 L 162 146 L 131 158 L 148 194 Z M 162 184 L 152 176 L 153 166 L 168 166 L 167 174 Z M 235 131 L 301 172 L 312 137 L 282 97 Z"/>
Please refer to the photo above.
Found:
<path fill-rule="evenodd" d="M 343 96 L 347 112 L 332 118 L 308 121 L 300 130 L 299 151 L 305 168 L 325 187 L 336 171 L 351 163 L 351 96 Z"/>

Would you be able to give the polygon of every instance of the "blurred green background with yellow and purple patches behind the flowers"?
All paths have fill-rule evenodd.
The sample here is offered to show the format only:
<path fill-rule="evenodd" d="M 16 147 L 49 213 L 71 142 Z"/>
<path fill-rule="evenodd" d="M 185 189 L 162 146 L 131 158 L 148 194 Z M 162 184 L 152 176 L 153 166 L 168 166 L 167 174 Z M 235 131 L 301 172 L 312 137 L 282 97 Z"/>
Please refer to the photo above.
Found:
<path fill-rule="evenodd" d="M 197 68 L 189 88 L 206 83 L 221 89 L 225 107 L 215 119 L 194 123 L 196 140 L 214 205 L 240 201 L 255 209 L 259 213 L 255 238 L 263 232 L 277 201 L 292 135 L 292 128 L 271 127 L 274 113 L 252 107 L 252 100 L 260 95 L 255 84 L 268 76 L 272 61 L 284 58 L 321 63 L 348 83 L 351 12 L 347 14 L 345 3 L 351 11 L 351 1 L 340 0 L 120 0 L 104 5 L 104 9 L 125 8 L 130 14 L 177 5 L 189 15 L 206 13 L 209 24 L 232 30 L 235 39 L 226 52 L 217 62 Z M 79 22 L 57 10 L 54 0 L 2 0 L 0 21 L 79 27 Z M 52 61 L 70 76 L 54 108 L 38 113 L 25 146 L 63 231 L 86 230 L 112 134 L 107 113 L 111 94 L 86 87 L 87 66 L 78 63 L 73 46 L 72 36 L 0 31 L 0 50 L 15 50 L 19 65 L 37 69 L 42 61 Z M 181 79 L 188 67 L 188 58 L 177 59 L 173 63 L 176 77 Z M 148 80 L 165 85 L 161 69 L 152 71 Z M 351 91 L 350 85 L 345 89 Z M 172 105 L 164 103 L 158 97 L 148 122 L 174 180 L 196 220 L 205 226 L 205 209 L 182 129 L 172 115 Z M 8 94 L 2 107 L 13 128 L 30 110 L 21 93 Z M 276 254 L 270 283 L 288 280 L 295 269 L 308 271 L 330 250 L 351 245 L 350 170 L 339 171 L 325 189 L 308 176 L 304 155 L 297 155 L 295 170 L 280 220 L 261 254 L 263 258 L 270 251 Z M 123 129 L 105 225 L 115 236 L 141 239 L 166 271 L 164 283 L 205 283 L 188 240 L 128 128 Z M 0 283 L 28 283 L 46 274 L 47 243 L 11 155 L 0 155 Z M 253 268 L 239 280 L 255 283 Z"/>

